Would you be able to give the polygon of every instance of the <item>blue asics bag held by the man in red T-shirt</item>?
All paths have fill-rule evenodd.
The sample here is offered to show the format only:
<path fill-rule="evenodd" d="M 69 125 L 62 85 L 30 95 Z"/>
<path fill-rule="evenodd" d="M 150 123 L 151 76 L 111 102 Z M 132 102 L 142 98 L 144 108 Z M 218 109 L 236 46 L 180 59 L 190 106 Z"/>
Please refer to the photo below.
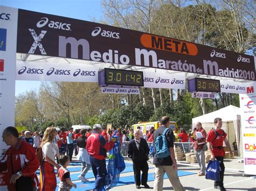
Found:
<path fill-rule="evenodd" d="M 205 171 L 205 178 L 219 181 L 220 180 L 220 161 L 219 160 L 210 160 L 206 171 Z"/>

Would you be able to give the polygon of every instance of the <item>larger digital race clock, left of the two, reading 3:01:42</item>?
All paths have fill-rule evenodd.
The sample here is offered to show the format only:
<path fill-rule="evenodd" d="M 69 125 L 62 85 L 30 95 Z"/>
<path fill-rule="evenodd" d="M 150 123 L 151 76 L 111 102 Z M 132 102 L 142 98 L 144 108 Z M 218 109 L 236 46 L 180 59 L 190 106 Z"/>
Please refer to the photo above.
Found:
<path fill-rule="evenodd" d="M 104 68 L 99 71 L 99 86 L 144 86 L 143 72 Z"/>

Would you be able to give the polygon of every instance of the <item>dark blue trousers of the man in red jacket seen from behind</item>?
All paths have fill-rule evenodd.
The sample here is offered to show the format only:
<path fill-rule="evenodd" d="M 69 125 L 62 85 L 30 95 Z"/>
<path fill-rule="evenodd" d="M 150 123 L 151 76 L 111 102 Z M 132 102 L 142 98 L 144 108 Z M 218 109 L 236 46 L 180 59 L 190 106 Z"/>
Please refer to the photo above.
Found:
<path fill-rule="evenodd" d="M 100 188 L 103 187 L 105 176 L 107 173 L 106 170 L 106 160 L 98 160 L 92 157 L 90 155 L 90 162 L 92 166 L 92 172 L 95 176 L 95 188 L 93 188 L 93 191 L 99 191 Z"/>

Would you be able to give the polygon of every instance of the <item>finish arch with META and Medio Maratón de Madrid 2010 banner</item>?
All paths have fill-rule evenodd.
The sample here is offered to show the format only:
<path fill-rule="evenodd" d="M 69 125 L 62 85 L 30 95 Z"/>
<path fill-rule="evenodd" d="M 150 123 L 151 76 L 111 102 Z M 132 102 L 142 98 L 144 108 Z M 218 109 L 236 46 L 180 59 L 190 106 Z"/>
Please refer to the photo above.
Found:
<path fill-rule="evenodd" d="M 196 76 L 220 79 L 224 81 L 222 92 L 225 92 L 225 84 L 232 84 L 235 89 L 226 88 L 226 92 L 243 94 L 240 96 L 241 107 L 246 105 L 243 101 L 256 102 L 255 56 L 45 13 L 5 6 L 0 6 L 0 10 L 5 15 L 0 20 L 1 135 L 7 126 L 15 124 L 16 79 L 81 81 L 82 77 L 72 76 L 76 69 L 97 71 L 112 67 L 166 75 L 170 80 Z M 49 68 L 55 66 L 59 67 L 58 70 L 67 67 L 72 72 L 47 75 Z M 29 67 L 31 72 L 27 73 Z M 97 79 L 97 75 L 83 78 L 86 82 L 97 82 Z M 148 86 L 161 88 L 159 84 Z M 178 85 L 179 89 L 185 88 L 185 85 Z M 236 89 L 238 86 L 244 89 Z M 170 83 L 167 87 L 177 88 Z M 247 134 L 255 131 L 254 128 L 246 128 L 247 122 L 252 123 L 252 117 L 256 118 L 255 112 L 241 119 L 243 131 Z M 253 124 L 250 126 L 255 126 Z M 255 135 L 243 139 L 252 145 Z M 1 153 L 5 148 L 1 139 Z M 248 153 L 248 159 L 255 161 L 255 154 L 252 154 L 255 152 L 246 151 L 246 148 L 244 152 Z"/>

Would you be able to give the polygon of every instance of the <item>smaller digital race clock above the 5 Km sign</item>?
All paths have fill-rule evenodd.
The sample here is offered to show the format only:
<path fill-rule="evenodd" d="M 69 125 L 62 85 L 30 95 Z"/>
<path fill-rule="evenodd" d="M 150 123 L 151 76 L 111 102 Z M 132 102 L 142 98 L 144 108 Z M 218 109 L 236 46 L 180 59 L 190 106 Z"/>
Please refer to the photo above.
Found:
<path fill-rule="evenodd" d="M 220 81 L 195 77 L 188 80 L 188 91 L 220 92 Z"/>

